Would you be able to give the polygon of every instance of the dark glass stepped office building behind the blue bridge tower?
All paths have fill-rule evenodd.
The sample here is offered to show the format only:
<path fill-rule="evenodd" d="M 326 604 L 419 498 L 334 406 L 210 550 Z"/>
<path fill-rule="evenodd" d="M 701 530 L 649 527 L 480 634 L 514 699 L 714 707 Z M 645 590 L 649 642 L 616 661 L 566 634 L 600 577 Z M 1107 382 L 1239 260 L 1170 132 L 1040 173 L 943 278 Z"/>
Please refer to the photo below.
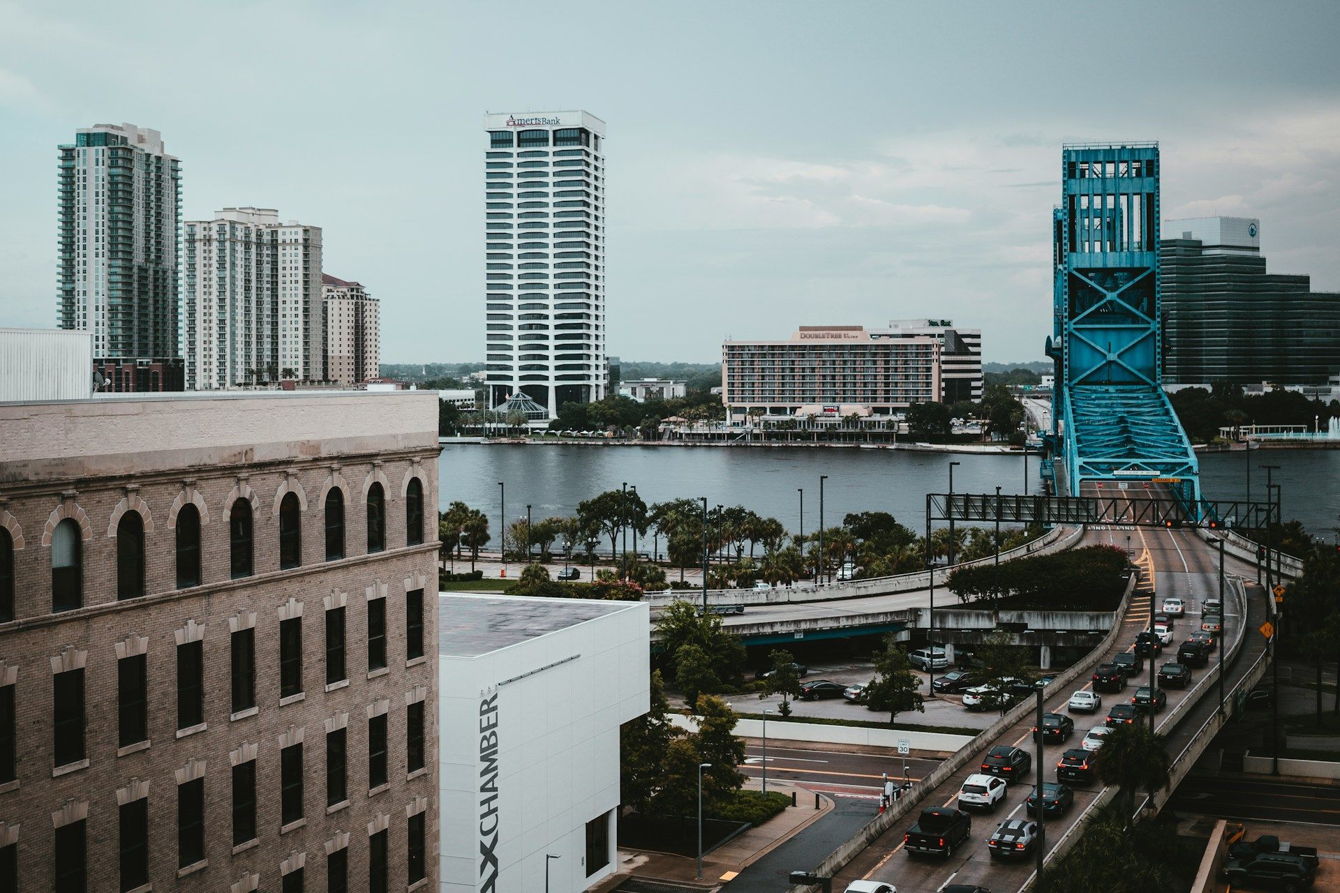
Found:
<path fill-rule="evenodd" d="M 1164 384 L 1324 384 L 1340 372 L 1340 293 L 1266 273 L 1258 221 L 1164 221 L 1163 236 Z"/>

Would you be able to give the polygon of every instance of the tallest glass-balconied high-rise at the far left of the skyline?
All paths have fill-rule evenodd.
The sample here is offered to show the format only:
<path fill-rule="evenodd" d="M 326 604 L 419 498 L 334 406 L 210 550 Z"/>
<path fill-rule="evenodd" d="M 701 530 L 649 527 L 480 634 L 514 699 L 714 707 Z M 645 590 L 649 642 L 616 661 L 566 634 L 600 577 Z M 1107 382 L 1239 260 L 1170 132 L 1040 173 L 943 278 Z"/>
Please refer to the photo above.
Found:
<path fill-rule="evenodd" d="M 99 360 L 177 349 L 181 163 L 162 134 L 94 125 L 60 150 L 60 328 L 90 331 Z"/>

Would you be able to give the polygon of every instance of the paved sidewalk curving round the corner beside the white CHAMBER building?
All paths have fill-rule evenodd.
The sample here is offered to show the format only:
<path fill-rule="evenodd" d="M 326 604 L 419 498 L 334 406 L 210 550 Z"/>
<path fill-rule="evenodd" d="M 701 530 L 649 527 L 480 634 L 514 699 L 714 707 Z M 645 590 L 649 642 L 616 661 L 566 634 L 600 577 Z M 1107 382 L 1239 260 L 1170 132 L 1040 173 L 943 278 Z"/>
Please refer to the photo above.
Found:
<path fill-rule="evenodd" d="M 758 779 L 745 782 L 745 789 L 758 790 Z M 695 877 L 697 864 L 691 857 L 620 847 L 619 869 L 591 889 L 595 893 L 610 893 L 623 882 L 638 878 L 666 881 L 673 885 L 701 890 L 716 890 L 746 866 L 781 846 L 833 809 L 833 802 L 823 795 L 817 795 L 819 809 L 815 809 L 816 794 L 793 785 L 772 782 L 768 785 L 768 790 L 795 794 L 796 806 L 788 806 L 784 813 L 776 815 L 765 825 L 750 827 L 740 837 L 722 843 L 712 853 L 704 856 L 701 881 Z"/>

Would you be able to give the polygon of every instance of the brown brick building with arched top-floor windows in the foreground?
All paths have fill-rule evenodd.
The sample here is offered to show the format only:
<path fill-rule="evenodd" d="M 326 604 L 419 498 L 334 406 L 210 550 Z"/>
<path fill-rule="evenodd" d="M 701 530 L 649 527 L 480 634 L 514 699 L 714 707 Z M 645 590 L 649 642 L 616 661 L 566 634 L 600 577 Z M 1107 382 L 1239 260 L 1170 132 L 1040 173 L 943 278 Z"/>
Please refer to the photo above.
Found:
<path fill-rule="evenodd" d="M 437 454 L 433 392 L 0 404 L 0 889 L 436 886 Z"/>

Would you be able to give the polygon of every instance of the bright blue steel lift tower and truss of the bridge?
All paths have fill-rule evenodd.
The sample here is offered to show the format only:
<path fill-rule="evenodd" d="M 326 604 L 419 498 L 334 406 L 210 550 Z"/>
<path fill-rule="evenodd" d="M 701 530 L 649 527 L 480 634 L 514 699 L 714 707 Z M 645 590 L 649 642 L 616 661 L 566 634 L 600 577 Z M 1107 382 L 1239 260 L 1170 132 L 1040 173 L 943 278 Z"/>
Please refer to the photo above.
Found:
<path fill-rule="evenodd" d="M 1195 454 L 1162 387 L 1159 213 L 1158 143 L 1063 147 L 1052 439 L 1071 495 L 1159 481 L 1197 513 Z"/>

